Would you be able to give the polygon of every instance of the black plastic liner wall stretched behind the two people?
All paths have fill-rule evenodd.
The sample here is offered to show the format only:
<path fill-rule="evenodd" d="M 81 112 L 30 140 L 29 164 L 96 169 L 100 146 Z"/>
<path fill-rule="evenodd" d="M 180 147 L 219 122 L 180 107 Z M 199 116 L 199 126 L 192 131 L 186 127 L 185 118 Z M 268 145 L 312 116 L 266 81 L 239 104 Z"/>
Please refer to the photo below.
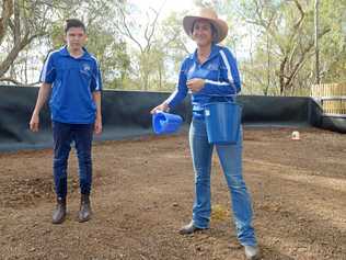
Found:
<path fill-rule="evenodd" d="M 0 150 L 51 147 L 51 122 L 47 105 L 41 112 L 41 129 L 32 133 L 28 122 L 38 88 L 0 87 Z M 95 140 L 112 140 L 153 134 L 150 110 L 170 93 L 112 91 L 102 97 L 103 133 Z M 253 126 L 315 126 L 346 133 L 346 118 L 322 116 L 310 98 L 240 95 L 242 122 Z M 184 118 L 185 127 L 192 117 L 189 97 L 172 111 Z"/>

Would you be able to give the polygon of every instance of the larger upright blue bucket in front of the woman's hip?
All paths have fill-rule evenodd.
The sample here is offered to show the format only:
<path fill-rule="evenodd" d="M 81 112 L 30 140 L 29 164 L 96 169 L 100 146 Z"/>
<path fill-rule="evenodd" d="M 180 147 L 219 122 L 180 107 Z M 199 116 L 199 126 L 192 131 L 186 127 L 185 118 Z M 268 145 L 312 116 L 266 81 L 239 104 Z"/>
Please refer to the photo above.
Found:
<path fill-rule="evenodd" d="M 235 144 L 239 138 L 242 108 L 234 102 L 215 102 L 205 106 L 209 144 Z"/>

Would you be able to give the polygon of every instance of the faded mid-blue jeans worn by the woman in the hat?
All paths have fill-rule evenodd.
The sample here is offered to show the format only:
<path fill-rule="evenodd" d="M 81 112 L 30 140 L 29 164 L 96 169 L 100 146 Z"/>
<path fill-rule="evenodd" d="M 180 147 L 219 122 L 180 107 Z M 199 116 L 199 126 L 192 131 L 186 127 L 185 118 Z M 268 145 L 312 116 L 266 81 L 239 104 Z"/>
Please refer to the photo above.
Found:
<path fill-rule="evenodd" d="M 216 145 L 223 174 L 230 190 L 238 239 L 243 246 L 257 245 L 252 226 L 251 197 L 242 176 L 242 132 L 235 145 Z M 208 228 L 211 213 L 210 170 L 214 145 L 208 143 L 206 123 L 193 118 L 189 146 L 195 171 L 195 202 L 193 222 L 196 227 Z"/>

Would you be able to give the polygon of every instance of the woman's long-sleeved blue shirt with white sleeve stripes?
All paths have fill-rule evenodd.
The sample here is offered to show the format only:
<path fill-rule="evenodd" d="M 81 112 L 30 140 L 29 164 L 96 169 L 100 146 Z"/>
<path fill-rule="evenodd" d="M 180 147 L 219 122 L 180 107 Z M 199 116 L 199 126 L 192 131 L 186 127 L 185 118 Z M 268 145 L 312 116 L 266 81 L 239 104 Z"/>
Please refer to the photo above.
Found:
<path fill-rule="evenodd" d="M 184 59 L 176 89 L 165 101 L 170 108 L 184 100 L 188 92 L 186 81 L 193 78 L 205 79 L 204 88 L 192 93 L 193 114 L 197 117 L 203 116 L 205 104 L 232 101 L 241 91 L 237 60 L 224 46 L 214 44 L 208 59 L 203 64 L 198 61 L 197 49 Z"/>

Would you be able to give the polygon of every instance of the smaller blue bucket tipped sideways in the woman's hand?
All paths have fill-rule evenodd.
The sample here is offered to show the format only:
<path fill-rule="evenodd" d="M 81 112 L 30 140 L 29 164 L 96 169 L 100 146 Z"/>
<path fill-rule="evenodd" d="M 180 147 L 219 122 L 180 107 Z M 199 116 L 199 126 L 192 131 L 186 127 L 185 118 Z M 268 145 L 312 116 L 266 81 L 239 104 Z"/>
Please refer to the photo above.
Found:
<path fill-rule="evenodd" d="M 182 122 L 180 115 L 159 111 L 152 115 L 152 129 L 158 135 L 172 134 L 178 131 Z"/>

